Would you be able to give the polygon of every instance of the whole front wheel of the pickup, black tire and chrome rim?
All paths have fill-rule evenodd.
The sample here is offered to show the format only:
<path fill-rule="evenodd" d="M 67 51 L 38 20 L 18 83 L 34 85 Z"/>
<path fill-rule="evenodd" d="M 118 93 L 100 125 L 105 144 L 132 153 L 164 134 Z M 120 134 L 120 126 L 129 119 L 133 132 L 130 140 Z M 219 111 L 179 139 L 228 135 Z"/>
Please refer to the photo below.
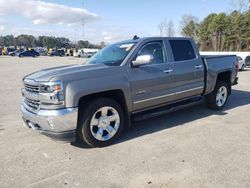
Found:
<path fill-rule="evenodd" d="M 89 102 L 79 116 L 78 135 L 92 147 L 112 144 L 124 130 L 123 109 L 109 98 Z"/>

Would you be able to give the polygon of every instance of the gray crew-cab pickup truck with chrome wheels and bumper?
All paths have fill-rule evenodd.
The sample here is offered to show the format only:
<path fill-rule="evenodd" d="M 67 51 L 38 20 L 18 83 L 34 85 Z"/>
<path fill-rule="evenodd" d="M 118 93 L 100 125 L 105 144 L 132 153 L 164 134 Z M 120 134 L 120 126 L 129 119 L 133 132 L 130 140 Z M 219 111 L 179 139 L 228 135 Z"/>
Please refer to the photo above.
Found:
<path fill-rule="evenodd" d="M 237 84 L 236 56 L 200 56 L 192 39 L 150 37 L 109 45 L 83 65 L 23 78 L 25 125 L 51 138 L 93 147 L 111 144 L 132 119 L 205 98 L 224 107 Z"/>

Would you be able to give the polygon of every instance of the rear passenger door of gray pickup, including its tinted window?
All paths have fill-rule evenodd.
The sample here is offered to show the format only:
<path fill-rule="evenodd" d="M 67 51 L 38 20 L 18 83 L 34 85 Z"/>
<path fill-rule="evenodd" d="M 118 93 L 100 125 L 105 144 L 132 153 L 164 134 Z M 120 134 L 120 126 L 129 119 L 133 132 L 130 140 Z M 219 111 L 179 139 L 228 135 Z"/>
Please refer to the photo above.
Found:
<path fill-rule="evenodd" d="M 204 66 L 189 39 L 170 39 L 176 87 L 175 99 L 199 95 L 204 88 Z"/>

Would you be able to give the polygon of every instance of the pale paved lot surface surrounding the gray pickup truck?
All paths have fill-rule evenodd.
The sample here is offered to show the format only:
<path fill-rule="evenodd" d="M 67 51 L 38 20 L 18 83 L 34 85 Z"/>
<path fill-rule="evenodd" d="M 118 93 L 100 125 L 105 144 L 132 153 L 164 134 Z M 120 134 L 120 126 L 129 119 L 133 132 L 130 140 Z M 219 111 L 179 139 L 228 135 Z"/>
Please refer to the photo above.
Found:
<path fill-rule="evenodd" d="M 250 69 L 224 111 L 199 104 L 134 122 L 110 147 L 62 144 L 23 127 L 22 77 L 80 62 L 0 56 L 0 187 L 250 187 Z"/>

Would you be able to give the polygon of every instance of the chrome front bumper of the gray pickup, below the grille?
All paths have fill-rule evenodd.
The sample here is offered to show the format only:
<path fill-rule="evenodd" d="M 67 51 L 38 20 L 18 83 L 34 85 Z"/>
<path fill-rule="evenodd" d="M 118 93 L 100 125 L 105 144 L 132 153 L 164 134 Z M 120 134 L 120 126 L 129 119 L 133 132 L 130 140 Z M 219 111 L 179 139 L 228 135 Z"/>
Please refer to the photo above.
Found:
<path fill-rule="evenodd" d="M 60 110 L 39 110 L 32 113 L 21 104 L 24 124 L 55 140 L 73 142 L 76 140 L 78 108 Z"/>

